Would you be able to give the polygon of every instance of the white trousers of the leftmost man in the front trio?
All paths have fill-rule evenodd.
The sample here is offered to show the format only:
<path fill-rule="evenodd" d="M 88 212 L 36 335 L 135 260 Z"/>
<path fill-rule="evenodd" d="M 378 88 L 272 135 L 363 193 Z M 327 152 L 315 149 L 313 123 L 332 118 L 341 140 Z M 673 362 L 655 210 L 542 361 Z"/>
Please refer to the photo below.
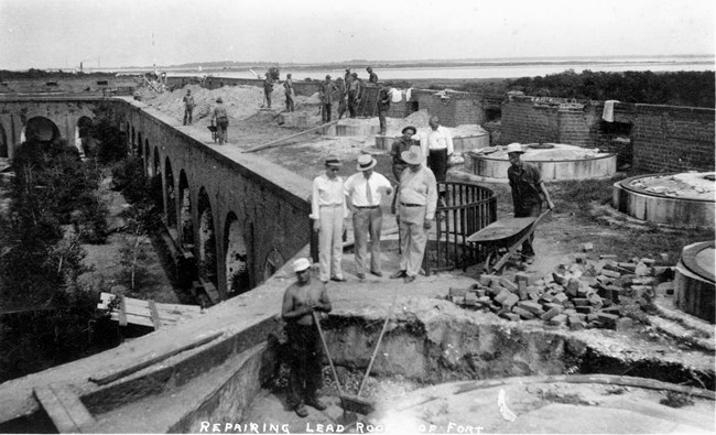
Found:
<path fill-rule="evenodd" d="M 330 278 L 343 279 L 343 205 L 321 207 L 318 276 L 323 282 Z"/>

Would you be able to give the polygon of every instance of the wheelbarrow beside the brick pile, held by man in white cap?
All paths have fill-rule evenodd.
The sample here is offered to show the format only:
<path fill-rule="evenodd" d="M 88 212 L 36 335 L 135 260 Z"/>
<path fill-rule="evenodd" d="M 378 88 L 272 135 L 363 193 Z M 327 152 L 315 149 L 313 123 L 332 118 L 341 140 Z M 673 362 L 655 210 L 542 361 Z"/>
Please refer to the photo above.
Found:
<path fill-rule="evenodd" d="M 485 272 L 499 272 L 549 213 L 546 210 L 538 217 L 500 219 L 468 237 L 469 243 L 480 244 L 487 250 Z"/>

